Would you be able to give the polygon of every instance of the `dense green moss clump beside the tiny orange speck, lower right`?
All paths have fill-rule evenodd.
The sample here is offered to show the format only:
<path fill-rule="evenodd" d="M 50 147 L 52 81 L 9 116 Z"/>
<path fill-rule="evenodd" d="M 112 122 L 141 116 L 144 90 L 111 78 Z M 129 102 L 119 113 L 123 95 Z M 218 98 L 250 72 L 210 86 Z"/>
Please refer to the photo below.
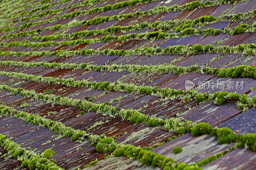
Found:
<path fill-rule="evenodd" d="M 237 135 L 229 128 L 217 129 L 218 142 L 219 144 L 228 144 L 230 142 L 235 142 L 238 138 Z"/>

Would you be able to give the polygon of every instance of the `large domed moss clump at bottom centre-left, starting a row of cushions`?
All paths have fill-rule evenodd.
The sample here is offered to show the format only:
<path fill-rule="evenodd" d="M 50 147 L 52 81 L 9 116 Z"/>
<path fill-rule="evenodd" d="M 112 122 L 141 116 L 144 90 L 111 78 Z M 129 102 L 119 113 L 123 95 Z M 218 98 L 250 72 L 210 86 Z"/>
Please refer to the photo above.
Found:
<path fill-rule="evenodd" d="M 105 137 L 100 139 L 98 144 L 96 145 L 97 152 L 113 152 L 116 149 L 116 142 L 112 137 Z"/>

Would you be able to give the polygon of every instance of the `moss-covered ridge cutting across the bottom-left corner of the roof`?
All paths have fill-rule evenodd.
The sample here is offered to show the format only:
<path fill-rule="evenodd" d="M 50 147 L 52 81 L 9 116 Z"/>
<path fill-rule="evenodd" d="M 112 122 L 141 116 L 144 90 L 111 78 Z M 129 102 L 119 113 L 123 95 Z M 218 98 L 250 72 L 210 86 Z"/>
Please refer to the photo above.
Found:
<path fill-rule="evenodd" d="M 2 134 L 0 134 L 0 144 L 7 150 L 7 153 L 4 156 L 12 155 L 14 158 L 22 162 L 20 168 L 28 167 L 30 170 L 34 170 L 36 168 L 64 170 L 63 168 L 55 164 L 54 159 L 50 160 L 52 154 L 48 155 L 48 159 L 46 159 L 44 156 L 45 154 L 40 155 L 39 152 L 35 152 L 34 150 L 21 148 L 19 144 L 8 139 L 6 136 Z M 46 152 L 54 153 L 50 149 L 45 150 L 44 153 Z"/>

